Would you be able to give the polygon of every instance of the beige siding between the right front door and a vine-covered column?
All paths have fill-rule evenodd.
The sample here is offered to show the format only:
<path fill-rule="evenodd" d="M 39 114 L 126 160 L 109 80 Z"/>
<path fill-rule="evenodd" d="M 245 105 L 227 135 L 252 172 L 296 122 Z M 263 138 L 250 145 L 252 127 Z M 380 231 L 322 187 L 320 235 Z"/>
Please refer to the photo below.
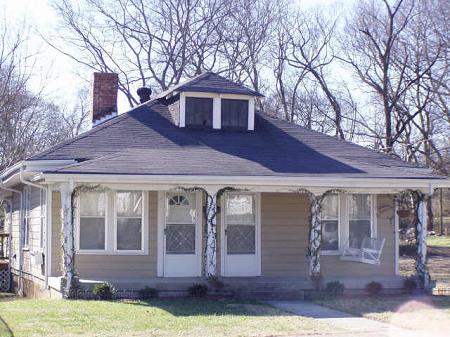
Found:
<path fill-rule="evenodd" d="M 262 276 L 308 275 L 308 209 L 305 195 L 261 193 Z"/>

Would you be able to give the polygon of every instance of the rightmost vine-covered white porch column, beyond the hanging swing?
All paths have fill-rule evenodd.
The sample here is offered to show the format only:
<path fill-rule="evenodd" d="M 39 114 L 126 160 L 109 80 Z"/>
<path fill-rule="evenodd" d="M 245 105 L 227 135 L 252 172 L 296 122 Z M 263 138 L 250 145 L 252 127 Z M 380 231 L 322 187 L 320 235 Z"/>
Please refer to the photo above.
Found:
<path fill-rule="evenodd" d="M 430 274 L 427 267 L 427 200 L 429 196 L 423 195 L 419 199 L 419 205 L 417 206 L 417 219 L 416 219 L 416 273 L 422 282 L 424 289 L 428 289 L 430 286 Z"/>

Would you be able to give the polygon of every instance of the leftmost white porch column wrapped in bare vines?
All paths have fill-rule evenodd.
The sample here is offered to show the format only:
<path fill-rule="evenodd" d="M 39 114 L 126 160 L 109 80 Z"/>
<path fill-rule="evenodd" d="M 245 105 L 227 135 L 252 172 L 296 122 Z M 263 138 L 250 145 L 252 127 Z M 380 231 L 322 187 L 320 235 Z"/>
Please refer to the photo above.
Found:
<path fill-rule="evenodd" d="M 63 286 L 63 296 L 69 298 L 72 292 L 73 278 L 75 276 L 75 245 L 72 219 L 72 193 L 73 182 L 61 184 L 61 225 L 63 233 L 63 275 L 65 284 Z"/>

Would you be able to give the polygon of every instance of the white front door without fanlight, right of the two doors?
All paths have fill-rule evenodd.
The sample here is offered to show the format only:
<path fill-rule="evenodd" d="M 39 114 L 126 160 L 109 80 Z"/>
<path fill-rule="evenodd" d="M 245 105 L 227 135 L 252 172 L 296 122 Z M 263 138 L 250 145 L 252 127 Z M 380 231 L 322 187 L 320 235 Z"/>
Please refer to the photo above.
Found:
<path fill-rule="evenodd" d="M 259 195 L 226 193 L 222 221 L 224 276 L 261 275 Z"/>

